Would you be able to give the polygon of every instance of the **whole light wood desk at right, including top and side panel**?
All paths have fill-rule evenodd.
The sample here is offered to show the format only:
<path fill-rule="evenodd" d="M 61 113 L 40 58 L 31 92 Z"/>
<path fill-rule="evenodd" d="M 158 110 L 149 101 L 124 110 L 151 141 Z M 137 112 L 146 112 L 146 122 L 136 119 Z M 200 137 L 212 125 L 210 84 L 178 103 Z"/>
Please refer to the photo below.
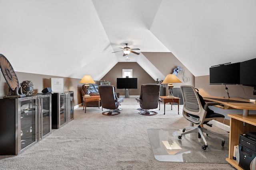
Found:
<path fill-rule="evenodd" d="M 222 104 L 222 109 L 243 109 L 243 114 L 228 114 L 230 117 L 230 134 L 229 134 L 229 149 L 228 158 L 226 161 L 230 163 L 234 168 L 243 170 L 238 166 L 236 160 L 233 160 L 234 145 L 239 144 L 239 138 L 241 134 L 245 134 L 249 131 L 256 131 L 256 115 L 249 115 L 249 110 L 256 110 L 256 103 L 250 102 L 248 99 L 239 98 L 224 98 L 207 96 L 204 100 L 211 102 L 218 102 Z M 237 102 L 236 102 L 237 101 Z"/>

